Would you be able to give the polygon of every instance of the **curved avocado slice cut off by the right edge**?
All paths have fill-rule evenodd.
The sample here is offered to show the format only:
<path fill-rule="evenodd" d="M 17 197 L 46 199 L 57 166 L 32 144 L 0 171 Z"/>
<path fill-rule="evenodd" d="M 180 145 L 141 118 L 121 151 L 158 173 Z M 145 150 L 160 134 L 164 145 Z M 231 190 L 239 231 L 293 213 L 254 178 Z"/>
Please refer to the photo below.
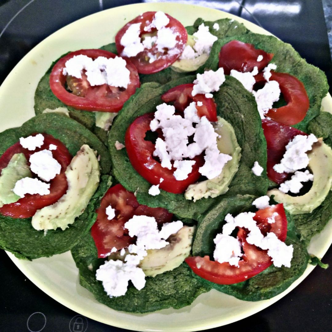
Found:
<path fill-rule="evenodd" d="M 331 190 L 332 183 L 332 149 L 322 138 L 313 145 L 308 153 L 309 169 L 313 174 L 311 189 L 302 196 L 290 196 L 279 189 L 268 191 L 268 196 L 274 196 L 278 203 L 284 203 L 290 214 L 310 213 L 325 200 Z"/>

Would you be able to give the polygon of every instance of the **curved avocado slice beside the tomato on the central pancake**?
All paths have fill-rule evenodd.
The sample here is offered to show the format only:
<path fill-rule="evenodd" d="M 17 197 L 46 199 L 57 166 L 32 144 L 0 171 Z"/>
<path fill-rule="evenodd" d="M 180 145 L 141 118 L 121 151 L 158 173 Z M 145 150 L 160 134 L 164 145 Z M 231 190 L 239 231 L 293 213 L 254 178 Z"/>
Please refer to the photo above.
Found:
<path fill-rule="evenodd" d="M 214 179 L 190 185 L 185 192 L 185 198 L 187 200 L 193 198 L 194 202 L 196 202 L 203 197 L 207 198 L 223 195 L 227 192 L 233 176 L 239 169 L 241 148 L 237 143 L 232 125 L 223 118 L 218 117 L 218 122 L 214 124 L 214 131 L 219 134 L 217 137 L 218 150 L 221 153 L 231 155 L 232 159 L 226 163 L 221 173 Z"/>

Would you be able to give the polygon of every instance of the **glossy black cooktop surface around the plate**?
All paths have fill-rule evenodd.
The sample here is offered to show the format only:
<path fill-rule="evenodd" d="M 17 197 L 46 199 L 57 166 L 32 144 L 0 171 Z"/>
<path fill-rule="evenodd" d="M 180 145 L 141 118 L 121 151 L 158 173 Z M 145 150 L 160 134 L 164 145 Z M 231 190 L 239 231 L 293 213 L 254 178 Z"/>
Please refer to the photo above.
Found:
<path fill-rule="evenodd" d="M 153 2 L 145 2 L 149 1 Z M 100 10 L 137 2 L 141 1 L 0 1 L 0 31 L 5 29 L 0 35 L 0 83 L 31 48 L 59 28 Z M 321 68 L 326 73 L 330 86 L 332 85 L 332 63 L 327 34 L 328 30 L 332 44 L 330 0 L 323 0 L 328 29 L 322 2 L 318 0 L 181 2 L 224 10 L 261 25 L 283 41 L 292 44 L 309 63 Z M 0 259 L 0 280 L 3 286 L 0 331 L 75 331 L 75 321 L 78 323 L 77 332 L 125 331 L 85 317 L 76 317 L 74 311 L 59 304 L 30 282 L 4 251 L 0 251 Z M 275 304 L 241 321 L 212 330 L 331 331 L 331 248 L 324 256 L 323 262 L 329 263 L 331 268 L 315 268 L 299 286 Z"/>

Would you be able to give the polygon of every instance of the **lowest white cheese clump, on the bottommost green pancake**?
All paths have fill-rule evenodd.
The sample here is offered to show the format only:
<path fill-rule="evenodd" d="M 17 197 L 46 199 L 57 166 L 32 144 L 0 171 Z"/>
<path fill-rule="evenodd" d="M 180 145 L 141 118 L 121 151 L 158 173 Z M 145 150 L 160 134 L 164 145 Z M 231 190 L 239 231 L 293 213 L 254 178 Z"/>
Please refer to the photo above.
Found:
<path fill-rule="evenodd" d="M 143 270 L 130 262 L 120 260 L 105 261 L 96 271 L 96 279 L 103 283 L 104 290 L 111 297 L 124 295 L 129 280 L 138 290 L 145 286 Z"/>

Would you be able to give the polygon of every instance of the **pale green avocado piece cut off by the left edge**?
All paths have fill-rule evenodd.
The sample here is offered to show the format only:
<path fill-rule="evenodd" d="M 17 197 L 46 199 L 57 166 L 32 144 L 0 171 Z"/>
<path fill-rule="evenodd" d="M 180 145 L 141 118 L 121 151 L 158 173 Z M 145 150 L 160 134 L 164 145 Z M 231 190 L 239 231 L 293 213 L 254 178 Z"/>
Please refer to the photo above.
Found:
<path fill-rule="evenodd" d="M 15 183 L 23 178 L 31 178 L 32 174 L 23 153 L 15 153 L 0 176 L 0 207 L 15 203 L 21 197 L 13 192 Z"/>

